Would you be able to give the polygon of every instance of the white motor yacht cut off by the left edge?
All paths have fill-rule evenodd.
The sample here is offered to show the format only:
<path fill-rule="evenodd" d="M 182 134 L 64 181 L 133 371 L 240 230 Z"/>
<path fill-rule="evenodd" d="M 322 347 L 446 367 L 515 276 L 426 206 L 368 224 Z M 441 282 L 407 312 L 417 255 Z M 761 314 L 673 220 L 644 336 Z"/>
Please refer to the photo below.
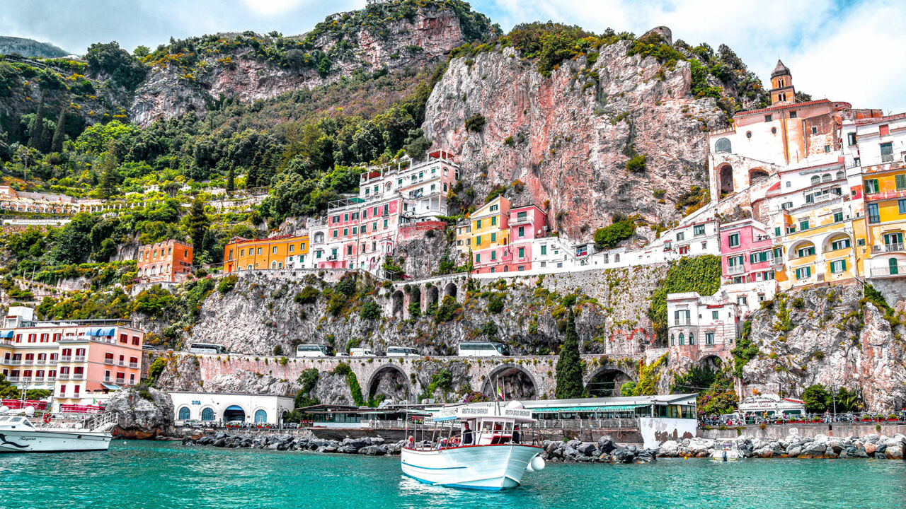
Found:
<path fill-rule="evenodd" d="M 35 419 L 35 426 L 32 416 L 34 408 L 25 408 L 21 414 L 0 415 L 0 453 L 106 451 L 111 445 L 109 431 L 116 424 L 115 416 L 100 414 L 70 422 L 39 418 Z"/>

